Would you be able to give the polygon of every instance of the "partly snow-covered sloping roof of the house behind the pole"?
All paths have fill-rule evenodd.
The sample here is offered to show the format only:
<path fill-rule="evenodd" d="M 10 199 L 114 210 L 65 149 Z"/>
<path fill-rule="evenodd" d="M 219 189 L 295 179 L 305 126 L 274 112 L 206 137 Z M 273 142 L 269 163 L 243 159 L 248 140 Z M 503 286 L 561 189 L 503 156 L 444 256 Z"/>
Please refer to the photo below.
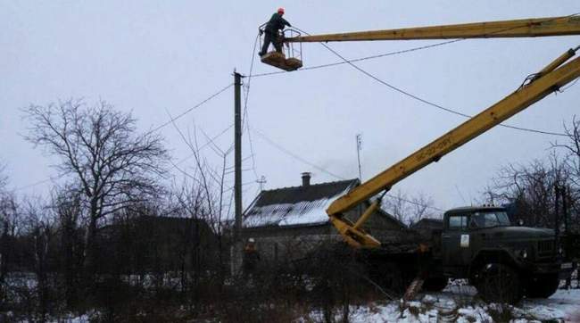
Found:
<path fill-rule="evenodd" d="M 244 227 L 326 223 L 330 203 L 358 183 L 358 179 L 350 179 L 262 191 L 244 213 Z"/>

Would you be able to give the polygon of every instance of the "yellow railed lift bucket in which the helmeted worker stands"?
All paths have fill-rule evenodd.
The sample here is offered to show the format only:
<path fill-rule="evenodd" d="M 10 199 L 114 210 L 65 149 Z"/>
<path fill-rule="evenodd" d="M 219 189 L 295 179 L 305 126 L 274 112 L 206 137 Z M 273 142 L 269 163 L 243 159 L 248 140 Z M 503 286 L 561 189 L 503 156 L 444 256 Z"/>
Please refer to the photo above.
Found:
<path fill-rule="evenodd" d="M 260 28 L 263 31 L 263 25 Z M 263 35 L 263 33 L 261 33 Z M 280 36 L 282 52 L 276 50 L 268 52 L 261 56 L 261 62 L 274 66 L 281 70 L 292 71 L 298 70 L 302 67 L 302 44 L 294 46 L 294 43 L 284 43 L 287 37 L 299 37 L 300 32 L 294 29 L 286 29 Z M 262 44 L 262 37 L 260 37 L 260 47 Z"/>

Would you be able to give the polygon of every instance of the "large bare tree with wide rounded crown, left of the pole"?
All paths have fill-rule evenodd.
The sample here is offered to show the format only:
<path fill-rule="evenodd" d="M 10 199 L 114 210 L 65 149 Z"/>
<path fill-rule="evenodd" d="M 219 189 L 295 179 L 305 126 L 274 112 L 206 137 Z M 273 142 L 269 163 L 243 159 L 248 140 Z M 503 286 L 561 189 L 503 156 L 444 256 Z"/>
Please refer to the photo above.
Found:
<path fill-rule="evenodd" d="M 88 214 L 87 258 L 92 260 L 99 222 L 160 191 L 155 176 L 163 175 L 168 159 L 162 137 L 137 135 L 131 114 L 117 112 L 104 101 L 94 106 L 82 100 L 30 105 L 23 112 L 30 124 L 25 138 L 60 157 L 54 165 L 60 176 L 79 183 Z"/>

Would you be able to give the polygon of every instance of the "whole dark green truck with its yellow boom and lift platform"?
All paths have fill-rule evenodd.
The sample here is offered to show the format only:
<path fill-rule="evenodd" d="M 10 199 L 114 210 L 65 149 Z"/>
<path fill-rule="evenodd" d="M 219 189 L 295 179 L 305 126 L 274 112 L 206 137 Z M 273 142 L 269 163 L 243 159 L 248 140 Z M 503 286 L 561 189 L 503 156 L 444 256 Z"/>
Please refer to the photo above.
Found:
<path fill-rule="evenodd" d="M 287 37 L 284 41 L 292 44 L 564 35 L 580 35 L 579 17 L 571 15 L 319 36 L 300 35 Z M 360 260 L 369 265 L 369 273 L 374 279 L 391 289 L 410 283 L 405 294 L 406 298 L 410 298 L 421 286 L 428 290 L 438 290 L 446 286 L 449 277 L 468 278 L 486 301 L 518 302 L 524 295 L 548 297 L 558 287 L 560 278 L 569 277 L 576 263 L 567 259 L 567 253 L 559 245 L 559 236 L 555 236 L 553 230 L 514 226 L 506 211 L 498 207 L 468 207 L 447 211 L 443 216 L 442 232 L 433 232 L 429 238 L 418 238 L 401 245 L 381 243 L 366 232 L 362 225 L 375 213 L 381 199 L 394 184 L 431 162 L 439 162 L 445 154 L 580 77 L 580 58 L 573 58 L 577 50 L 578 47 L 569 49 L 542 70 L 526 78 L 524 84 L 498 103 L 330 204 L 327 214 L 331 222 L 344 241 L 359 250 Z M 288 52 L 289 56 L 293 53 L 292 50 Z M 299 58 L 278 52 L 270 52 L 262 56 L 261 60 L 283 70 L 302 67 Z M 351 220 L 344 216 L 346 211 L 369 199 L 375 201 L 370 203 L 359 219 Z"/>

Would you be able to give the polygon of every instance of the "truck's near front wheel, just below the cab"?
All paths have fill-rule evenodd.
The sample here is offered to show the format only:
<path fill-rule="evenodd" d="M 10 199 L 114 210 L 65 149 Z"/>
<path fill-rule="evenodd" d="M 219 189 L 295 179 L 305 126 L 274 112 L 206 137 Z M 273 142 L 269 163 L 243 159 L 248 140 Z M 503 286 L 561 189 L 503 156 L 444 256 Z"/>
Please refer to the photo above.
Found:
<path fill-rule="evenodd" d="M 485 302 L 513 304 L 523 296 L 518 272 L 501 263 L 489 263 L 479 270 L 476 288 Z"/>

